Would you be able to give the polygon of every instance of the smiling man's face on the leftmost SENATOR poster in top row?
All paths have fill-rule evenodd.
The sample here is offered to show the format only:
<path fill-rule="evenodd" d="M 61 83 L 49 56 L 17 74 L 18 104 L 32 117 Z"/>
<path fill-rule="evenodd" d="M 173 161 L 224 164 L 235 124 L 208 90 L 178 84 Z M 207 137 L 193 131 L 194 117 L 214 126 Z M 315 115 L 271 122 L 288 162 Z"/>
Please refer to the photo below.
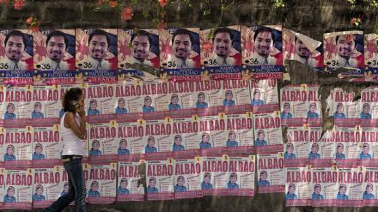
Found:
<path fill-rule="evenodd" d="M 11 36 L 5 43 L 5 55 L 9 60 L 19 61 L 25 51 L 25 43 L 21 36 Z"/>

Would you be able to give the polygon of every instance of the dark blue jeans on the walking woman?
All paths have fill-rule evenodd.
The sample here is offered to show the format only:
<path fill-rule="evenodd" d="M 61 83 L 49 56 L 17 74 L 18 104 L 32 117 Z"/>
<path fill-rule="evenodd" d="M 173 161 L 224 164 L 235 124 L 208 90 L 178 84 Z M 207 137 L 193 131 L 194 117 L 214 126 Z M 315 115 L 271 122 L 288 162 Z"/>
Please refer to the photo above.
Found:
<path fill-rule="evenodd" d="M 85 206 L 85 181 L 82 167 L 82 157 L 62 156 L 63 165 L 67 171 L 68 193 L 62 195 L 43 212 L 61 212 L 72 201 L 75 201 L 76 212 L 86 212 Z"/>

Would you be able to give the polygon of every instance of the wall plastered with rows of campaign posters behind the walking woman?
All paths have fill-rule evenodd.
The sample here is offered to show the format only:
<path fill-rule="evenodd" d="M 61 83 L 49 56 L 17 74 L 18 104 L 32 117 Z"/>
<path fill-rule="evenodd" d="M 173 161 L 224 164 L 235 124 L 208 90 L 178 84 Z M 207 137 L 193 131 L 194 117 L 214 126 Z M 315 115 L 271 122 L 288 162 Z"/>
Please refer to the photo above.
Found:
<path fill-rule="evenodd" d="M 273 17 L 268 15 L 271 8 L 256 5 L 232 6 L 239 17 L 226 15 L 221 24 L 226 29 L 176 24 L 186 22 L 180 17 L 164 31 L 137 20 L 120 28 L 98 18 L 91 23 L 93 17 L 73 9 L 84 20 L 73 21 L 76 29 L 57 22 L 33 35 L 20 30 L 25 33 L 20 63 L 6 61 L 17 52 L 1 55 L 0 160 L 6 162 L 0 195 L 8 201 L 3 209 L 44 207 L 64 193 L 57 121 L 62 94 L 72 86 L 85 91 L 88 106 L 83 142 L 92 209 L 98 203 L 134 211 L 160 204 L 159 211 L 170 211 L 176 207 L 168 206 L 172 203 L 185 211 L 223 211 L 231 201 L 241 205 L 232 207 L 237 211 L 281 211 L 283 204 L 375 205 L 376 54 L 366 48 L 375 35 L 369 29 L 350 29 L 338 15 L 333 22 L 320 20 L 329 8 L 315 9 L 322 12 L 316 25 L 326 23 L 319 32 L 305 26 L 308 14 L 291 17 L 284 8 L 286 15 Z M 332 8 L 335 14 L 340 10 Z M 2 14 L 11 18 L 9 9 Z M 271 43 L 258 41 L 259 27 L 243 15 L 270 26 Z M 107 48 L 92 51 L 90 35 L 99 26 L 105 35 L 97 37 L 105 36 Z M 140 29 L 135 32 L 133 26 Z M 215 33 L 217 29 L 224 31 Z M 53 31 L 64 36 L 49 38 Z M 338 33 L 346 31 L 350 33 Z M 5 40 L 11 30 L 2 32 Z M 325 34 L 329 32 L 336 33 Z M 219 40 L 217 46 L 217 34 L 229 36 L 231 43 Z M 63 38 L 65 48 L 48 51 L 51 38 Z M 140 49 L 125 48 L 138 39 Z M 46 54 L 36 51 L 40 48 Z M 332 126 L 330 120 L 335 120 Z"/>

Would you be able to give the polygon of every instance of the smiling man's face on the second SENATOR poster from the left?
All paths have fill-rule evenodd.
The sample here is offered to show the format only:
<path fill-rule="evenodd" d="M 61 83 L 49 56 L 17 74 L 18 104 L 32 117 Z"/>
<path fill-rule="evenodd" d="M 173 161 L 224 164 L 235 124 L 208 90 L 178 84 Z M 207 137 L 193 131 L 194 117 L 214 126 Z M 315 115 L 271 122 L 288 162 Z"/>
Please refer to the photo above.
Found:
<path fill-rule="evenodd" d="M 64 42 L 64 37 L 62 36 L 51 37 L 46 46 L 47 56 L 51 60 L 59 62 L 60 60 L 62 60 L 66 52 L 66 47 L 67 46 Z"/>

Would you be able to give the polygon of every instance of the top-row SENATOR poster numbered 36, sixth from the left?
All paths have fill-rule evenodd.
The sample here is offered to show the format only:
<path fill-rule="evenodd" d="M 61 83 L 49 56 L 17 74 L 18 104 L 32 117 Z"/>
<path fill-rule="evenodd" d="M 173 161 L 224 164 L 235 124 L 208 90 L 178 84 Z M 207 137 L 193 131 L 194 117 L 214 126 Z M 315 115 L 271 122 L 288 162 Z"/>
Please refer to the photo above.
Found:
<path fill-rule="evenodd" d="M 242 78 L 240 26 L 206 29 L 200 32 L 203 75 L 214 80 Z"/>

